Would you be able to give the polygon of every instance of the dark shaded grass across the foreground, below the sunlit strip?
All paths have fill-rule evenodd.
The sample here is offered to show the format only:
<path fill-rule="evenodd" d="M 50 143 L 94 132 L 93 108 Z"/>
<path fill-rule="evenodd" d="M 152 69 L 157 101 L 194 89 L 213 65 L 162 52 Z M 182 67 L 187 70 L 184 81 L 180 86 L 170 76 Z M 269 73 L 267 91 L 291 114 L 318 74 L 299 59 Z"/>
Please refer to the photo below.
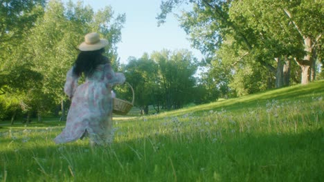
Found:
<path fill-rule="evenodd" d="M 37 143 L 1 152 L 8 181 L 321 181 L 323 128 L 300 134 L 156 135 L 91 149 Z M 33 141 L 29 141 L 33 142 Z"/>

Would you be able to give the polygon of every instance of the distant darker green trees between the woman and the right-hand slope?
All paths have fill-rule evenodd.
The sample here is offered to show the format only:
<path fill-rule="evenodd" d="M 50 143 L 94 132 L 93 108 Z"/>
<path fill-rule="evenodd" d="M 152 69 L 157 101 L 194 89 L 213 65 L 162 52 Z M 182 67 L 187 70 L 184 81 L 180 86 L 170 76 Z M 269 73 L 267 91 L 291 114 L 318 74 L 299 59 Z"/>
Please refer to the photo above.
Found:
<path fill-rule="evenodd" d="M 217 85 L 199 79 L 195 75 L 198 68 L 199 61 L 188 50 L 162 50 L 150 56 L 145 53 L 139 59 L 129 57 L 127 65 L 122 66 L 142 114 L 148 113 L 149 105 L 160 112 L 183 108 L 188 103 L 216 101 L 220 94 Z M 129 88 L 126 90 L 130 97 Z"/>

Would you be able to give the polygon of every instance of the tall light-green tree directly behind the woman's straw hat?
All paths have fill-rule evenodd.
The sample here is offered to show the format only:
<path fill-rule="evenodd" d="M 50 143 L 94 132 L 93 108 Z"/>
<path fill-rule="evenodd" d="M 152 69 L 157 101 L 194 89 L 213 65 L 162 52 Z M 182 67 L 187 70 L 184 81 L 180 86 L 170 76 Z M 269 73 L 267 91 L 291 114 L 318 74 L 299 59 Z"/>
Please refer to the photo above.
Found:
<path fill-rule="evenodd" d="M 88 32 L 98 32 L 109 40 L 105 54 L 114 63 L 116 43 L 120 41 L 124 22 L 125 14 L 114 19 L 111 7 L 94 13 L 91 7 L 84 7 L 80 2 L 75 5 L 70 1 L 64 6 L 61 1 L 49 1 L 44 17 L 38 19 L 27 41 L 30 57 L 26 59 L 32 60 L 34 69 L 44 75 L 42 92 L 51 95 L 55 103 L 64 105 L 66 72 L 75 61 L 77 47 Z"/>

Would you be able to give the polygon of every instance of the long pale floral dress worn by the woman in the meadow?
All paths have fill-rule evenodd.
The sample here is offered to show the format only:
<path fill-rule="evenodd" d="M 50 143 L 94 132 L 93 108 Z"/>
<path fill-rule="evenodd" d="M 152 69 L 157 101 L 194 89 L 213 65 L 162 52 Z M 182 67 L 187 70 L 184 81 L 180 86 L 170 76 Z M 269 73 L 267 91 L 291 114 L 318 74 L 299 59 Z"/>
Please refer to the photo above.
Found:
<path fill-rule="evenodd" d="M 71 68 L 66 74 L 64 92 L 72 98 L 66 127 L 54 139 L 55 143 L 76 141 L 89 136 L 91 143 L 105 145 L 114 137 L 112 128 L 111 87 L 125 82 L 123 73 L 115 73 L 109 63 L 98 65 L 91 77 L 78 85 Z"/>

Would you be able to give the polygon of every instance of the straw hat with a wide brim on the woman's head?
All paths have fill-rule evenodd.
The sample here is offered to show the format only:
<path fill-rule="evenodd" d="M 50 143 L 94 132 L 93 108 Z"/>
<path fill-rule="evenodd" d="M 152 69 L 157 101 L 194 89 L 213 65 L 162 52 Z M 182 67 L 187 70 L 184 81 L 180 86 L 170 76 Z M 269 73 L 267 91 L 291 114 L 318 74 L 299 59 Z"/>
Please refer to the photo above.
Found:
<path fill-rule="evenodd" d="M 96 32 L 86 34 L 84 36 L 84 42 L 79 45 L 79 50 L 81 51 L 92 51 L 100 50 L 108 45 L 107 39 L 100 39 L 100 36 Z"/>

